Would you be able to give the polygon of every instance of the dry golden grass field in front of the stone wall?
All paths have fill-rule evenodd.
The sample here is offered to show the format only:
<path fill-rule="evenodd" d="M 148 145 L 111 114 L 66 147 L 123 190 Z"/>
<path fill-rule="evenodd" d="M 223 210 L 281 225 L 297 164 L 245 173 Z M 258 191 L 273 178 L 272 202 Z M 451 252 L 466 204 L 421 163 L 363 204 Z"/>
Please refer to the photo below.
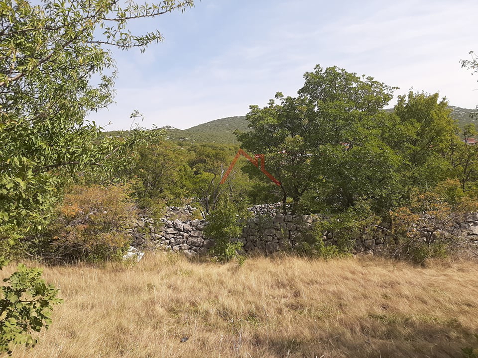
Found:
<path fill-rule="evenodd" d="M 14 357 L 461 357 L 478 332 L 470 262 L 282 257 L 237 267 L 157 254 L 44 277 L 64 303 L 37 347 Z"/>

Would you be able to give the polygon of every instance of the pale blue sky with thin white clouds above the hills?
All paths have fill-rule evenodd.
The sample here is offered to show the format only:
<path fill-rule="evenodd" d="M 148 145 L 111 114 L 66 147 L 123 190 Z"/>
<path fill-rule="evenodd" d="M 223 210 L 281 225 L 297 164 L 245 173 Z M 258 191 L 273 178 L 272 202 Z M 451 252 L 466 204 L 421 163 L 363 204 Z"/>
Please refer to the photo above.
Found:
<path fill-rule="evenodd" d="M 315 65 L 475 108 L 478 74 L 460 60 L 478 52 L 477 14 L 477 0 L 196 0 L 131 24 L 133 33 L 159 29 L 164 42 L 113 51 L 116 103 L 89 119 L 129 129 L 138 110 L 141 127 L 186 129 L 245 115 L 278 91 L 295 96 Z"/>

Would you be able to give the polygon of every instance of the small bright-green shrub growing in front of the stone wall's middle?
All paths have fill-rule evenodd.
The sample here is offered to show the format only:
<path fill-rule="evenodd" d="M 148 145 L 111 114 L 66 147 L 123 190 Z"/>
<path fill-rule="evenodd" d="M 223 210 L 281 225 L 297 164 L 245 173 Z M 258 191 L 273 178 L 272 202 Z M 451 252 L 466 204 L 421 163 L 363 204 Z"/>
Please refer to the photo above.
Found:
<path fill-rule="evenodd" d="M 236 260 L 239 265 L 244 258 L 239 254 L 242 242 L 236 241 L 242 231 L 242 221 L 249 215 L 245 206 L 239 206 L 228 199 L 222 199 L 208 216 L 205 235 L 215 240 L 211 254 L 219 262 Z"/>

